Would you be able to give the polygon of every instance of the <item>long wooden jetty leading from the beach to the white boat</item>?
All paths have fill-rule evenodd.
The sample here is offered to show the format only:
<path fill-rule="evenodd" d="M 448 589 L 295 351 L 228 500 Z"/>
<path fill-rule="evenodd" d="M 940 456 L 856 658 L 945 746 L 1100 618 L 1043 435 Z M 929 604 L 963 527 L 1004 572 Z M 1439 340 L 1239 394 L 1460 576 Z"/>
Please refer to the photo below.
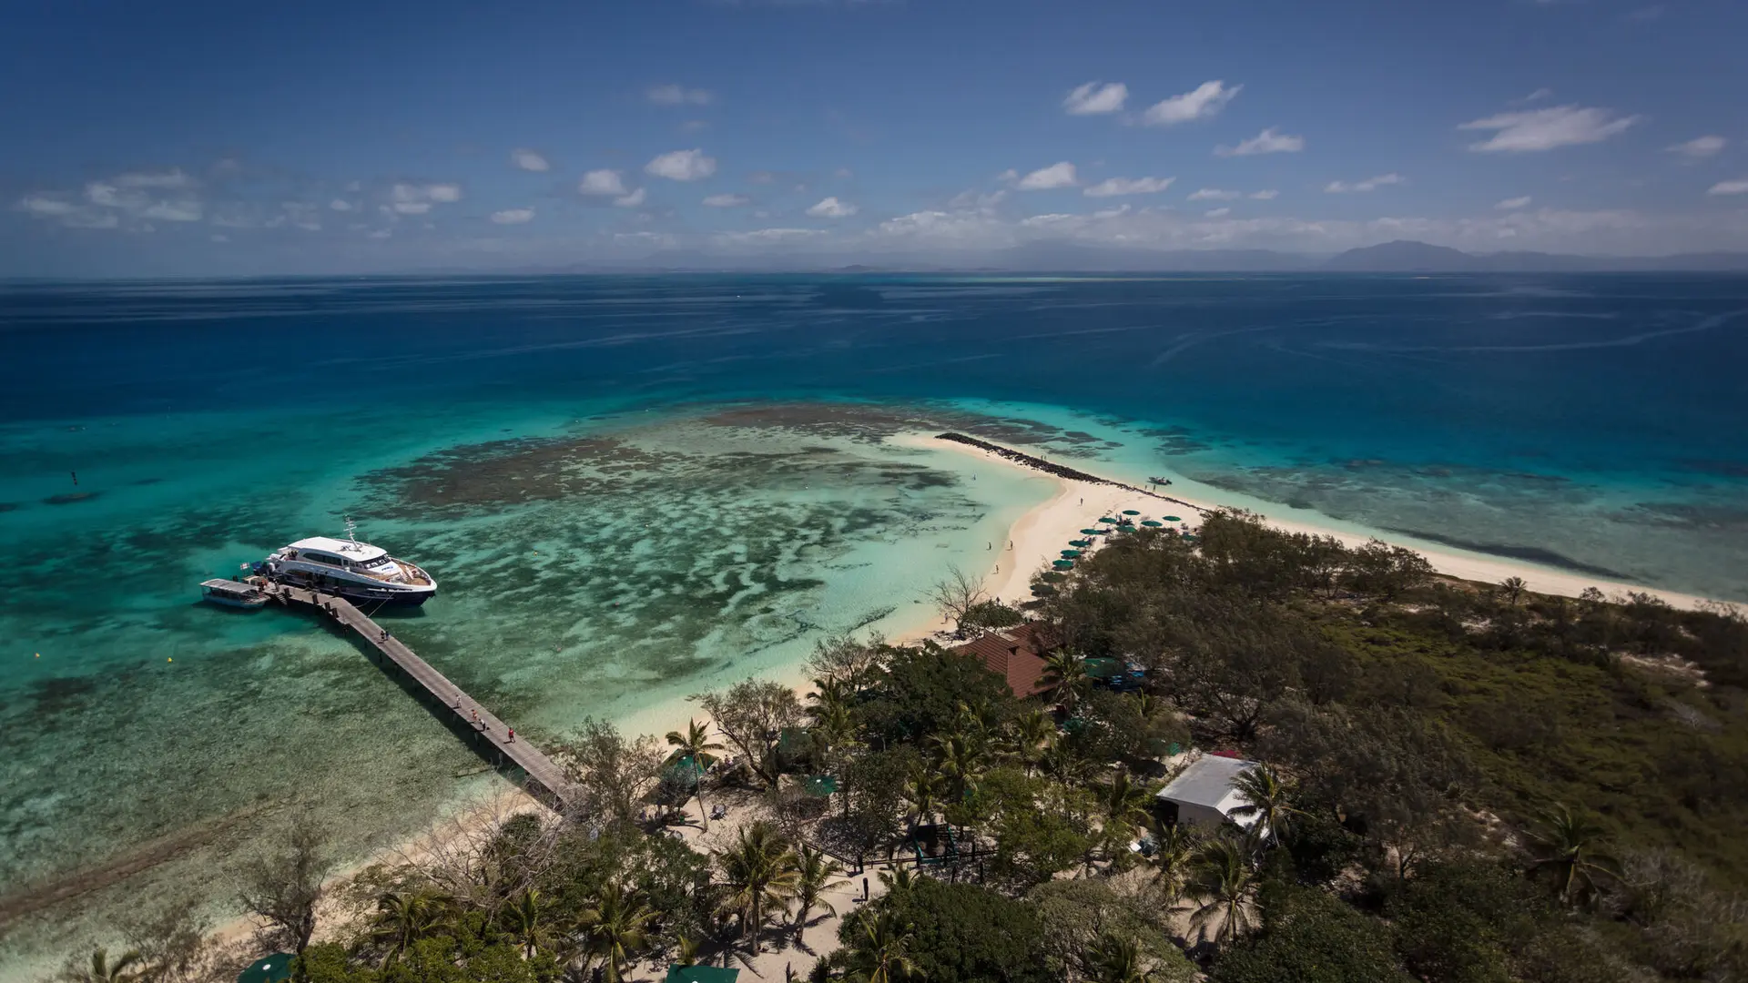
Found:
<path fill-rule="evenodd" d="M 460 686 L 449 682 L 444 673 L 432 668 L 430 663 L 421 659 L 413 649 L 406 647 L 400 638 L 395 638 L 381 624 L 365 617 L 364 612 L 353 607 L 350 600 L 304 588 L 294 588 L 290 584 L 267 584 L 264 589 L 280 603 L 297 603 L 315 609 L 353 630 L 360 638 L 369 642 L 371 647 L 393 663 L 395 668 L 404 672 L 409 679 L 430 693 L 434 703 L 442 714 L 453 714 L 454 722 L 474 731 L 481 742 L 489 742 L 489 750 L 496 754 L 496 763 L 500 766 L 509 761 L 521 768 L 523 773 L 528 775 L 526 787 L 535 794 L 535 798 L 540 798 L 547 805 L 559 810 L 573 803 L 577 794 L 570 780 L 565 777 L 563 768 L 554 764 L 552 759 L 542 754 L 538 747 L 528 743 L 519 735 L 514 742 L 509 740 L 509 724 L 500 721 L 491 710 L 475 703 L 474 698 L 463 693 Z"/>

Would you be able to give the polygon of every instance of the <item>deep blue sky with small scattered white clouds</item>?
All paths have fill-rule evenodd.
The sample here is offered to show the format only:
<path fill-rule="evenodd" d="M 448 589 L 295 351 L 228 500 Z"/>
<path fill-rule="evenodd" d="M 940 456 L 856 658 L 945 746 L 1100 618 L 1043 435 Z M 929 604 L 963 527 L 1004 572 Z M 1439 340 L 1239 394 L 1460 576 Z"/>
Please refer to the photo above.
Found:
<path fill-rule="evenodd" d="M 24 3 L 0 275 L 1748 248 L 1748 5 Z"/>

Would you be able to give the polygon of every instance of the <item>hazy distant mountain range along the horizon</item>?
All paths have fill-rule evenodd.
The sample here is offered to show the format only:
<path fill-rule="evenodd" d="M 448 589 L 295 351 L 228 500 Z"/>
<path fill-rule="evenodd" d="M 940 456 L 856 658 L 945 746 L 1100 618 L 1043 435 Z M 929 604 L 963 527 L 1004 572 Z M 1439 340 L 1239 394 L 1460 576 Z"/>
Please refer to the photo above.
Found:
<path fill-rule="evenodd" d="M 1550 252 L 1463 252 L 1397 240 L 1337 255 L 1234 250 L 1148 250 L 1033 241 L 977 254 L 893 257 L 664 250 L 622 264 L 524 268 L 519 273 L 1748 273 L 1748 252 L 1619 257 Z"/>

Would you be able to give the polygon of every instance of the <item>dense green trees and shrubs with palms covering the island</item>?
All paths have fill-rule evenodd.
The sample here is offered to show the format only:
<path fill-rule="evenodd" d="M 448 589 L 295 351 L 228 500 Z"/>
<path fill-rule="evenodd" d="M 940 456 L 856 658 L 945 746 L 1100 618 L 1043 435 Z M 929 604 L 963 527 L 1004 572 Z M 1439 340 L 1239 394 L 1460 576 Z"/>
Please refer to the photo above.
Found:
<path fill-rule="evenodd" d="M 967 630 L 1017 617 L 958 588 L 937 593 Z M 748 680 L 701 696 L 713 728 L 666 743 L 584 728 L 561 757 L 586 815 L 488 824 L 325 901 L 302 829 L 246 901 L 323 983 L 619 980 L 750 960 L 827 915 L 839 948 L 815 980 L 1748 973 L 1748 624 L 1732 610 L 1442 581 L 1409 551 L 1245 514 L 1196 540 L 1122 533 L 1040 588 L 1026 614 L 1059 642 L 1049 707 L 933 644 L 834 638 L 806 700 Z M 1096 686 L 1087 658 L 1145 677 Z M 1180 743 L 1260 763 L 1241 784 L 1266 833 L 1159 824 Z M 711 852 L 647 815 L 725 796 L 759 819 Z M 884 890 L 823 908 L 858 862 Z M 308 945 L 318 903 L 341 927 Z M 192 978 L 152 938 L 68 976 L 129 978 L 126 960 Z"/>

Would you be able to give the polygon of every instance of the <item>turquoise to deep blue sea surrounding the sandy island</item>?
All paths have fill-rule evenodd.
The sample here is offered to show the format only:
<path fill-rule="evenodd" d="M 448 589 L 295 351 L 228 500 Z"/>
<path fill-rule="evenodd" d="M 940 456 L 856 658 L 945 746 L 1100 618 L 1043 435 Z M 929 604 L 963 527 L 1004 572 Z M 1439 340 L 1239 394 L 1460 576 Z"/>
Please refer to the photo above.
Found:
<path fill-rule="evenodd" d="M 344 638 L 196 603 L 346 516 L 440 581 L 397 635 L 535 740 L 904 630 L 1049 495 L 900 430 L 1743 600 L 1745 310 L 1582 276 L 0 292 L 0 885 L 198 833 L 9 925 L 0 978 L 142 899 L 224 913 L 290 803 L 358 855 L 493 787 Z"/>

